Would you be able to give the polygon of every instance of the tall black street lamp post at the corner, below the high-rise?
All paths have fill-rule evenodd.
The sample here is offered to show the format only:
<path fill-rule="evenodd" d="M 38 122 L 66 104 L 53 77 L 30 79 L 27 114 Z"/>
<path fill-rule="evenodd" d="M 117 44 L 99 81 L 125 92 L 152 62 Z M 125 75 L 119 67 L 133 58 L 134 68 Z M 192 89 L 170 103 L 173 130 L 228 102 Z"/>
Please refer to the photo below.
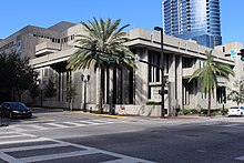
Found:
<path fill-rule="evenodd" d="M 154 27 L 154 30 L 160 31 L 161 34 L 161 118 L 164 118 L 164 59 L 163 59 L 163 29 L 161 27 Z"/>

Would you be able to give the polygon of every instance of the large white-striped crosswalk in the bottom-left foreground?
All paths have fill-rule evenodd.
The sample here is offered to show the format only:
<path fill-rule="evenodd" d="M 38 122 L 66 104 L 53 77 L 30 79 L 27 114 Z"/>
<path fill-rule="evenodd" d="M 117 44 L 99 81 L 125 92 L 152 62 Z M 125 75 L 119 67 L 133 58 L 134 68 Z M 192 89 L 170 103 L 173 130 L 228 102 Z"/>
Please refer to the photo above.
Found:
<path fill-rule="evenodd" d="M 0 162 L 153 163 L 95 147 L 20 132 L 0 133 Z"/>

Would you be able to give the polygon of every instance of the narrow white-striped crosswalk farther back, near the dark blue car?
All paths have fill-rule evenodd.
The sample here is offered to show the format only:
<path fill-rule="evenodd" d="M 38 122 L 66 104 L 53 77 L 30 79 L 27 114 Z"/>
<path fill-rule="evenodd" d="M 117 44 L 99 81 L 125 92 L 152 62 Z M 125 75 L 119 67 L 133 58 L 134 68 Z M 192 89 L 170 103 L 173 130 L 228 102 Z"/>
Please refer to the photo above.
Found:
<path fill-rule="evenodd" d="M 118 121 L 115 119 L 102 119 L 102 120 L 82 120 L 82 121 L 71 121 L 71 122 L 42 122 L 42 123 L 29 123 L 29 124 L 11 124 L 8 128 L 12 131 L 35 131 L 35 130 L 54 130 L 54 129 L 65 129 L 65 128 L 80 128 L 90 125 L 101 125 L 111 123 L 123 123 L 125 121 Z"/>

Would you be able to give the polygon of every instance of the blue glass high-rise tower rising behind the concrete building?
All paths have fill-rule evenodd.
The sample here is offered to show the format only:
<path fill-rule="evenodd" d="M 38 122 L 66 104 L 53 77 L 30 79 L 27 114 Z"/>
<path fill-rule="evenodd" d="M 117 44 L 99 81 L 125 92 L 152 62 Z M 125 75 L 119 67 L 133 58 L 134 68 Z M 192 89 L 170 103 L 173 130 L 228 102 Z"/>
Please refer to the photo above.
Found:
<path fill-rule="evenodd" d="M 163 0 L 165 34 L 214 48 L 222 44 L 220 0 Z"/>

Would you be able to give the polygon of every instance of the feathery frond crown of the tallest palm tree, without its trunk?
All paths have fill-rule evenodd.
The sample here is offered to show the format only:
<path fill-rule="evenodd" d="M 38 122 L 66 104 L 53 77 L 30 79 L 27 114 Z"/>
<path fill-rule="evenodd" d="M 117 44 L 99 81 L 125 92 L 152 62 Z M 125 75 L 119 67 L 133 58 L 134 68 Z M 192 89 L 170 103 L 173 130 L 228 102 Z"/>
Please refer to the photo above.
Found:
<path fill-rule="evenodd" d="M 80 33 L 75 35 L 78 42 L 82 48 L 91 49 L 92 44 L 96 45 L 98 51 L 104 51 L 109 53 L 119 53 L 123 51 L 126 55 L 134 55 L 129 47 L 123 43 L 128 41 L 125 37 L 124 30 L 129 24 L 119 28 L 121 20 L 118 19 L 112 21 L 110 18 L 104 21 L 103 19 L 93 18 L 92 21 L 81 22 L 84 28 L 84 33 Z M 68 69 L 78 70 L 78 69 L 88 69 L 94 62 L 95 68 L 99 67 L 109 67 L 109 64 L 120 65 L 119 58 L 116 58 L 115 63 L 110 63 L 106 61 L 101 61 L 98 59 L 93 59 L 91 55 L 91 51 L 85 49 L 77 50 L 68 60 Z M 109 57 L 104 53 L 98 53 L 104 58 Z M 124 60 L 123 64 L 128 67 L 135 68 L 135 64 L 131 60 Z"/>

